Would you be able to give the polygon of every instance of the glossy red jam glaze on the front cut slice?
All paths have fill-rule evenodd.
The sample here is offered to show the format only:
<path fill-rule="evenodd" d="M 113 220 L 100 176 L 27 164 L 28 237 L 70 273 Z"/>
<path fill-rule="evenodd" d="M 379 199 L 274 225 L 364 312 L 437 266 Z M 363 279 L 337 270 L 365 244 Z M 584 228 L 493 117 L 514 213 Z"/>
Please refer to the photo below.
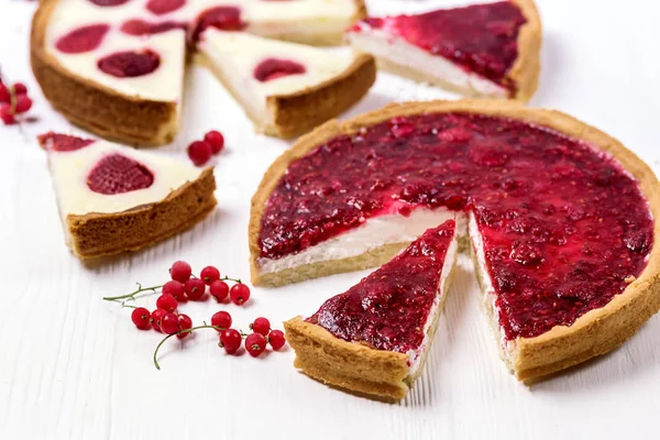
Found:
<path fill-rule="evenodd" d="M 427 230 L 389 263 L 328 299 L 308 322 L 378 350 L 417 350 L 433 307 L 455 223 Z"/>

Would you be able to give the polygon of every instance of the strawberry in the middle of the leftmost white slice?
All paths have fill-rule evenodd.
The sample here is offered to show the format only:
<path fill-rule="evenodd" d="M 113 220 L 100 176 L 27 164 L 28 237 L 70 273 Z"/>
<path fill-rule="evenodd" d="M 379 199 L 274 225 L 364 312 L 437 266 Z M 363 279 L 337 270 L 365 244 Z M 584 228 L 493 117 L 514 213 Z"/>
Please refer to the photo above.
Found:
<path fill-rule="evenodd" d="M 100 160 L 87 176 L 89 189 L 107 195 L 148 188 L 153 183 L 154 175 L 146 166 L 119 153 Z"/>

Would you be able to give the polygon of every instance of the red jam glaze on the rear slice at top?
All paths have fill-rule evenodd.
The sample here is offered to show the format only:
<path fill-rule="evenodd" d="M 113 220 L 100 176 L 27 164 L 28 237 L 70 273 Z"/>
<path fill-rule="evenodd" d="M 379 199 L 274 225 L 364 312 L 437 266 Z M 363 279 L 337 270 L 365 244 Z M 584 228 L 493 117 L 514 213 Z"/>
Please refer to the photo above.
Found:
<path fill-rule="evenodd" d="M 353 26 L 383 29 L 465 70 L 514 90 L 506 74 L 518 56 L 518 31 L 526 23 L 516 4 L 501 1 L 442 9 L 417 15 L 366 19 Z"/>

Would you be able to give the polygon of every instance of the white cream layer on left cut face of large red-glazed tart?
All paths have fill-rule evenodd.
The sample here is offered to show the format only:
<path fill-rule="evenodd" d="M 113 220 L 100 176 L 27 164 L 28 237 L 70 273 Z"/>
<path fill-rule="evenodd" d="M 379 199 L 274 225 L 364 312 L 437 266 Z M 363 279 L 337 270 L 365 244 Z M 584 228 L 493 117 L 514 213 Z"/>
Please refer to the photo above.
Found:
<path fill-rule="evenodd" d="M 362 226 L 346 231 L 316 246 L 280 258 L 258 258 L 264 274 L 295 268 L 304 264 L 342 260 L 362 255 L 386 244 L 410 243 L 427 229 L 436 228 L 447 220 L 457 221 L 458 231 L 465 230 L 465 216 L 447 208 L 415 209 L 409 217 L 386 215 L 366 220 Z"/>

